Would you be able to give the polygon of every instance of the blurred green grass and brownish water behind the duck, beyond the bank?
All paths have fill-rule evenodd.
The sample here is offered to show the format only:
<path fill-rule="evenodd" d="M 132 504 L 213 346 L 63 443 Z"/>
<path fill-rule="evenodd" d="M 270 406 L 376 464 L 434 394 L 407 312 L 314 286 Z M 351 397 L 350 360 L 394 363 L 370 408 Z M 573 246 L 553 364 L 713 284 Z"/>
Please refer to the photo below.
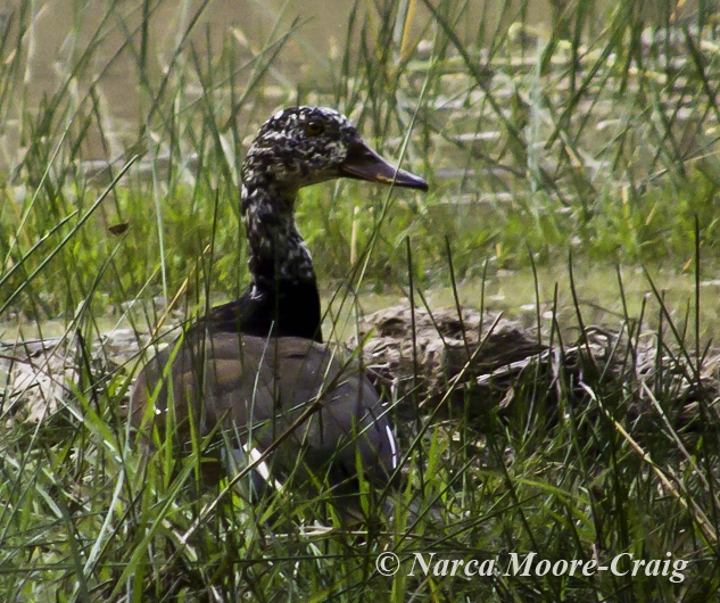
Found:
<path fill-rule="evenodd" d="M 447 239 L 470 291 L 483 273 L 552 269 L 570 251 L 599 274 L 682 274 L 695 215 L 703 255 L 718 254 L 716 8 L 8 2 L 0 308 L 44 320 L 92 290 L 98 310 L 117 310 L 172 298 L 191 273 L 191 291 L 237 295 L 239 164 L 259 124 L 293 104 L 349 114 L 432 185 L 392 199 L 351 182 L 303 191 L 298 221 L 326 290 L 372 240 L 352 285 L 398 294 L 408 236 L 428 287 L 447 285 Z"/>

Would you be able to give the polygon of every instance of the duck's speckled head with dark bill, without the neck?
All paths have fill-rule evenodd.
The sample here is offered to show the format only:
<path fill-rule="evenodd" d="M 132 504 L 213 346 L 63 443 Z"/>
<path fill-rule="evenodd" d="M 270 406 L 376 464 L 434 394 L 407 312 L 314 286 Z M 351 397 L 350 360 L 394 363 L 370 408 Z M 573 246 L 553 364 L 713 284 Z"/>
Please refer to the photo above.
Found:
<path fill-rule="evenodd" d="M 422 178 L 396 170 L 373 151 L 347 117 L 325 107 L 293 107 L 273 115 L 243 164 L 246 184 L 271 181 L 291 191 L 335 178 L 428 189 Z"/>

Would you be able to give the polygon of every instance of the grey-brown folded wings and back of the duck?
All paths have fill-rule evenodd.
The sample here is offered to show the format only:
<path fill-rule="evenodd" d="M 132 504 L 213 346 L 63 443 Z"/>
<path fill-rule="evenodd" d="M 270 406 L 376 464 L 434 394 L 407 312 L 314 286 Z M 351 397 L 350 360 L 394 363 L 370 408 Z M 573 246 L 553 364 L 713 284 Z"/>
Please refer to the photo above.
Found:
<path fill-rule="evenodd" d="M 215 333 L 160 352 L 143 369 L 131 418 L 148 432 L 175 426 L 182 439 L 222 430 L 238 450 L 273 447 L 278 476 L 332 483 L 357 468 L 378 484 L 398 464 L 386 409 L 357 363 L 307 339 Z"/>

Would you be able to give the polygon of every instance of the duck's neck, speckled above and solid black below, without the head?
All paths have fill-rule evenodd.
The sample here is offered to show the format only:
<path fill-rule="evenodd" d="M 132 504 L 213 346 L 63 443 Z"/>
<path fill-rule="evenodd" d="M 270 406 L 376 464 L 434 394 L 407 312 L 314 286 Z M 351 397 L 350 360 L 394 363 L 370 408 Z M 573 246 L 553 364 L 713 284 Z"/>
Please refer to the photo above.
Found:
<path fill-rule="evenodd" d="M 255 176 L 241 192 L 252 283 L 245 332 L 322 340 L 312 258 L 295 225 L 296 189 Z"/>

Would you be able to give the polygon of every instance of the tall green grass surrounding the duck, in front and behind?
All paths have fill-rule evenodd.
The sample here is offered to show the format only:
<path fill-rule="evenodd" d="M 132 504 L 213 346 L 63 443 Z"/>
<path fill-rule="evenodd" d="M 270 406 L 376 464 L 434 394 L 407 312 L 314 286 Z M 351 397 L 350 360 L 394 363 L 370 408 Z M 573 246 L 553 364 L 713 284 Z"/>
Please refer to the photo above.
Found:
<path fill-rule="evenodd" d="M 304 26 L 292 3 L 257 40 L 242 24 L 204 31 L 210 3 L 180 2 L 162 51 L 149 24 L 169 3 L 76 3 L 57 86 L 35 103 L 41 4 L 19 3 L 0 37 L 0 322 L 20 329 L 0 348 L 3 601 L 717 598 L 717 375 L 700 339 L 701 274 L 712 280 L 719 255 L 710 3 L 683 14 L 670 2 L 553 2 L 539 24 L 527 2 L 492 13 L 490 3 L 357 0 L 326 82 L 312 64 L 298 79 L 283 72 Z M 119 62 L 139 91 L 120 134 L 103 96 Z M 144 337 L 243 289 L 239 162 L 259 123 L 295 102 L 337 106 L 432 182 L 428 197 L 347 182 L 303 191 L 298 222 L 332 316 L 346 315 L 351 293 L 392 288 L 421 307 L 428 288 L 450 286 L 457 299 L 467 282 L 481 282 L 472 302 L 484 305 L 486 280 L 502 270 L 558 262 L 572 290 L 568 318 L 557 286 L 548 300 L 540 291 L 552 284 L 533 282 L 535 336 L 553 355 L 495 375 L 491 388 L 449 382 L 431 401 L 416 374 L 417 389 L 389 393 L 421 411 L 398 422 L 394 514 L 370 509 L 375 521 L 357 531 L 322 497 L 280 492 L 253 505 L 242 487 L 203 491 L 203 442 L 189 457 L 160 447 L 146 462 L 123 411 L 139 360 L 92 344 L 122 321 Z M 602 355 L 582 328 L 592 325 L 580 262 L 627 268 L 604 287 L 619 300 L 620 333 Z M 620 275 L 641 263 L 653 268 L 638 304 Z M 661 263 L 697 275 L 687 308 L 655 284 Z M 72 352 L 60 372 L 72 371 L 26 421 L 32 392 L 11 387 L 13 371 L 44 360 L 26 358 L 19 340 L 28 329 L 43 337 L 58 317 L 74 342 L 58 348 Z M 375 567 L 386 550 L 402 562 L 394 577 Z M 468 579 L 417 565 L 409 575 L 418 552 L 497 557 L 503 569 L 511 553 L 688 565 L 677 583 L 642 572 Z"/>

